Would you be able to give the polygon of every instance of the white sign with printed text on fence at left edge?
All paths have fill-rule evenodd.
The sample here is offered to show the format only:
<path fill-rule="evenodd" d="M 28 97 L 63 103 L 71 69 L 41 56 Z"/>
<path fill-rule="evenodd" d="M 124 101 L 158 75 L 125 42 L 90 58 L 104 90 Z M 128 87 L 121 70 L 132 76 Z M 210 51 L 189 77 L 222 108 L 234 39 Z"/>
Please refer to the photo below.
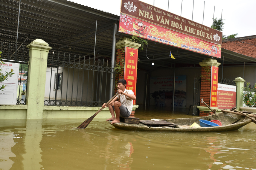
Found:
<path fill-rule="evenodd" d="M 16 104 L 17 91 L 18 91 L 18 76 L 19 76 L 20 64 L 18 63 L 9 63 L 5 62 L 1 65 L 1 73 L 11 72 L 11 69 L 14 70 L 14 75 L 8 77 L 8 80 L 5 80 L 0 83 L 0 86 L 6 85 L 5 89 L 0 91 L 0 104 Z"/>

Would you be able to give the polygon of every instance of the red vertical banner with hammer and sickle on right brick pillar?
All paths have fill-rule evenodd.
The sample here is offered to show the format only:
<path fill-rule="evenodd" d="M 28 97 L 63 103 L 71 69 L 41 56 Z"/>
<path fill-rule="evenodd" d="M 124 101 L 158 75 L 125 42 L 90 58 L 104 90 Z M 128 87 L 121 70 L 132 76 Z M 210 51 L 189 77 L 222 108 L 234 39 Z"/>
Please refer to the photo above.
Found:
<path fill-rule="evenodd" d="M 212 66 L 210 107 L 216 107 L 217 105 L 218 73 L 219 67 Z"/>

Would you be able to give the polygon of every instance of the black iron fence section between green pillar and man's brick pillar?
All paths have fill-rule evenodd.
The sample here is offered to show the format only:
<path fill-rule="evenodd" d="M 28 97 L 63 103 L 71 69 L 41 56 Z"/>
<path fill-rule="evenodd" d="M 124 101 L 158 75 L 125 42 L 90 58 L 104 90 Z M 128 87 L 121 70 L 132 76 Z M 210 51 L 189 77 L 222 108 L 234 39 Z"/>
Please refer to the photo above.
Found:
<path fill-rule="evenodd" d="M 102 106 L 108 100 L 113 72 L 108 58 L 55 54 L 51 50 L 47 60 L 44 105 Z"/>

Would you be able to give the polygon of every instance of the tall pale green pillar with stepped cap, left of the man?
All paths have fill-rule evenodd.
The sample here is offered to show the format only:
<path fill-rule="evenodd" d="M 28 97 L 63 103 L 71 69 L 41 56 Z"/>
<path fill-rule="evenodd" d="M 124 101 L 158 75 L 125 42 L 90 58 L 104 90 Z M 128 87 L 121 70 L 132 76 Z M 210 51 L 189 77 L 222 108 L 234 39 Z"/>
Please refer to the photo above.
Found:
<path fill-rule="evenodd" d="M 27 79 L 27 119 L 42 119 L 47 57 L 52 48 L 41 39 L 34 40 L 27 45 L 27 48 L 30 56 Z"/>

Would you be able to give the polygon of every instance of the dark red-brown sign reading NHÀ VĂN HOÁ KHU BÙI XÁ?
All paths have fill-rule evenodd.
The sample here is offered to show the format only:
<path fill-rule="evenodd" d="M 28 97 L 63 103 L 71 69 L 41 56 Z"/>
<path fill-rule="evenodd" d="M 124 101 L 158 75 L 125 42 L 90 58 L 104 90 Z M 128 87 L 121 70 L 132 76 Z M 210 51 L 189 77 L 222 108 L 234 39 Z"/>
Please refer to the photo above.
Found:
<path fill-rule="evenodd" d="M 122 0 L 120 13 L 221 45 L 222 32 L 138 0 Z"/>

